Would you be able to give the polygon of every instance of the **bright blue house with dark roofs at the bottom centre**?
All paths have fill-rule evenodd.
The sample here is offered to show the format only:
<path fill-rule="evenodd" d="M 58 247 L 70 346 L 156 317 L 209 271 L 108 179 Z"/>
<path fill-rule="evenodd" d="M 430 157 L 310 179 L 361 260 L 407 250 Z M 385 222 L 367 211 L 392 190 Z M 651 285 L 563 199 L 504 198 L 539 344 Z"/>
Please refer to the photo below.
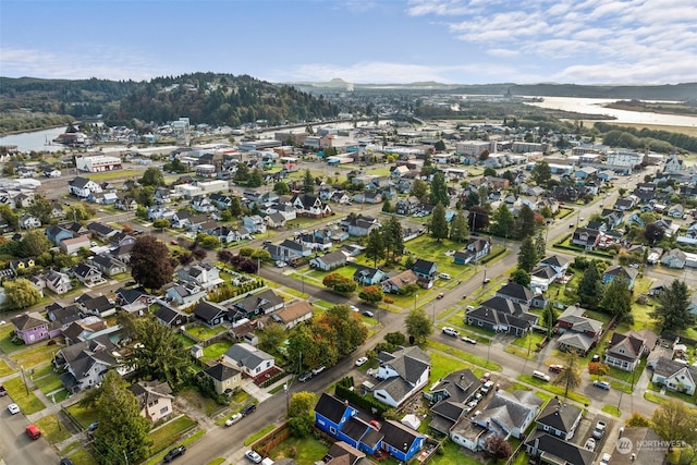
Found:
<path fill-rule="evenodd" d="M 337 440 L 375 454 L 378 450 L 407 462 L 424 445 L 426 437 L 398 421 L 387 420 L 379 429 L 358 417 L 347 402 L 322 393 L 315 405 L 315 426 Z"/>

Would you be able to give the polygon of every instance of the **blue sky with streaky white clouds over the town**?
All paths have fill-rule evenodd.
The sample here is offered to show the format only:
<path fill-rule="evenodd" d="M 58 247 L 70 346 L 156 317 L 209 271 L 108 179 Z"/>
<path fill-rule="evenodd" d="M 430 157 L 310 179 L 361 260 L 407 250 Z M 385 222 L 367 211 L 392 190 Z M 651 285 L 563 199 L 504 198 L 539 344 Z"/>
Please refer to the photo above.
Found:
<path fill-rule="evenodd" d="M 675 84 L 695 25 L 694 0 L 2 0 L 0 75 Z"/>

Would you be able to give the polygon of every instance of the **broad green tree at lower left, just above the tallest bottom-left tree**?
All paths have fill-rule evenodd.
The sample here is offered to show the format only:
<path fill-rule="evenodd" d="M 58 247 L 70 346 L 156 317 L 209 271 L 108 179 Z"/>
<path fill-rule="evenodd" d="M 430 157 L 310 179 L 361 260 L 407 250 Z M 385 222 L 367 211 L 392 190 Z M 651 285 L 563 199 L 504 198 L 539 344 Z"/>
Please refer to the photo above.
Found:
<path fill-rule="evenodd" d="M 189 359 L 184 343 L 171 328 L 155 318 L 138 318 L 134 321 L 135 341 L 125 357 L 135 367 L 136 379 L 159 379 L 172 389 L 186 381 Z"/>

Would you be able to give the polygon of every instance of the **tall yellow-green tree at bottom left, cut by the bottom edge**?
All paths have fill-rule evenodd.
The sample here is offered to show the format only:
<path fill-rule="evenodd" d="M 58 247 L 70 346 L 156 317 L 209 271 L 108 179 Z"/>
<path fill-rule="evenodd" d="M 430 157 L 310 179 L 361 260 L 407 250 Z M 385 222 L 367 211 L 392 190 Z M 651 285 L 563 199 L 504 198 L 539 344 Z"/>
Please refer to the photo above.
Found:
<path fill-rule="evenodd" d="M 93 441 L 97 462 L 120 464 L 127 456 L 130 463 L 138 463 L 147 457 L 152 443 L 150 421 L 140 415 L 138 401 L 129 391 L 126 382 L 119 374 L 109 370 L 101 387 L 94 391 L 99 417 L 99 428 L 95 430 Z"/>

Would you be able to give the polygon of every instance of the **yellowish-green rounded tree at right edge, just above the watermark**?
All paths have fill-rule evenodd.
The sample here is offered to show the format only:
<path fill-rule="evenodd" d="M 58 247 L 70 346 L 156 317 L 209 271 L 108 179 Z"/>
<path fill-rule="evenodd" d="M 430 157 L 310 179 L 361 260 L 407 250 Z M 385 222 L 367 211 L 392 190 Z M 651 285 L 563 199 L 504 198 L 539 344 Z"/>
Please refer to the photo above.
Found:
<path fill-rule="evenodd" d="M 697 443 L 697 408 L 681 400 L 664 401 L 651 415 L 653 431 L 665 441 Z"/>

